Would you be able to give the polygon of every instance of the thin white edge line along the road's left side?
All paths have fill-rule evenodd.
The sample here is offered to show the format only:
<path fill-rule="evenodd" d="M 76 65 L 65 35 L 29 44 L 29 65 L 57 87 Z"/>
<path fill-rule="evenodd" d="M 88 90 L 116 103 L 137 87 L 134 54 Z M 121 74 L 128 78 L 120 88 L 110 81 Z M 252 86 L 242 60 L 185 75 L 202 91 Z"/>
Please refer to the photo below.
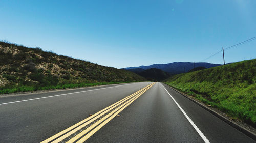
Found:
<path fill-rule="evenodd" d="M 135 83 L 132 83 L 132 84 L 135 84 Z M 131 84 L 124 84 L 124 85 L 131 85 Z M 17 102 L 24 102 L 24 101 L 30 101 L 30 100 L 37 100 L 37 99 L 43 99 L 43 98 L 50 98 L 50 97 L 56 97 L 56 96 L 62 96 L 62 95 L 68 95 L 68 94 L 75 94 L 75 93 L 82 93 L 82 92 L 96 91 L 96 90 L 102 90 L 102 89 L 109 89 L 109 88 L 121 87 L 121 86 L 124 86 L 124 85 L 116 85 L 116 86 L 113 86 L 113 87 L 107 87 L 107 88 L 100 88 L 100 89 L 93 89 L 93 90 L 87 90 L 87 91 L 80 91 L 80 92 L 73 92 L 73 93 L 59 94 L 59 95 L 53 95 L 53 96 L 47 96 L 47 97 L 40 97 L 40 98 L 33 98 L 33 99 L 27 99 L 27 100 L 20 100 L 20 101 L 14 101 L 14 102 L 7 102 L 7 103 L 1 103 L 0 105 L 11 104 L 11 103 L 17 103 Z"/>

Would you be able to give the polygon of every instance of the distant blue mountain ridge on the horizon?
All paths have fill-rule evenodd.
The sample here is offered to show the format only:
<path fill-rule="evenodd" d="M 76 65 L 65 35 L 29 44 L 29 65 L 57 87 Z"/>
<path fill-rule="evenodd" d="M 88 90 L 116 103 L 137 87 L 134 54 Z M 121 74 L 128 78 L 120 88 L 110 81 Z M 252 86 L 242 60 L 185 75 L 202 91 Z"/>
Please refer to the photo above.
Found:
<path fill-rule="evenodd" d="M 212 68 L 220 65 L 221 64 L 211 64 L 211 63 L 200 62 L 200 63 L 195 63 L 195 68 L 196 67 Z M 191 69 L 194 69 L 194 63 L 193 62 L 174 62 L 174 63 L 168 63 L 168 64 L 153 64 L 150 66 L 127 67 L 125 69 L 131 71 L 131 69 L 138 69 L 138 68 L 141 68 L 144 70 L 157 68 L 165 72 L 168 72 L 169 74 L 179 74 L 179 73 L 185 73 Z"/>

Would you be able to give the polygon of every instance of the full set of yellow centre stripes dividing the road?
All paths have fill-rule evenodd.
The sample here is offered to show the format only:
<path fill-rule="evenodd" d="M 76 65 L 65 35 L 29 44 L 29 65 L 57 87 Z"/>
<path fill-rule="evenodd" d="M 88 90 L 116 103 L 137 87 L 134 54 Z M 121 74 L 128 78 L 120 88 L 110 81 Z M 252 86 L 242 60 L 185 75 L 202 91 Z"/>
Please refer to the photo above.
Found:
<path fill-rule="evenodd" d="M 141 90 L 129 95 L 122 100 L 104 108 L 103 110 L 95 113 L 94 115 L 80 121 L 79 123 L 55 134 L 54 136 L 42 141 L 46 142 L 84 142 L 95 132 L 97 132 L 106 123 L 111 121 L 118 115 L 124 108 L 129 106 L 133 101 L 139 98 L 144 92 L 150 89 L 155 83 L 147 85 Z"/>

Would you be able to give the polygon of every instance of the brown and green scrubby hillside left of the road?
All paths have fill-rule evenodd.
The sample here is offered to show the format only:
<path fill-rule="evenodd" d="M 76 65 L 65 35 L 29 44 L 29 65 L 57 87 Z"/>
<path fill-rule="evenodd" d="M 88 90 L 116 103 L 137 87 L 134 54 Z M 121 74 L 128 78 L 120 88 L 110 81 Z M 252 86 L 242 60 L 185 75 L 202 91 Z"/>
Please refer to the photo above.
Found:
<path fill-rule="evenodd" d="M 0 42 L 0 93 L 145 81 L 133 72 Z"/>

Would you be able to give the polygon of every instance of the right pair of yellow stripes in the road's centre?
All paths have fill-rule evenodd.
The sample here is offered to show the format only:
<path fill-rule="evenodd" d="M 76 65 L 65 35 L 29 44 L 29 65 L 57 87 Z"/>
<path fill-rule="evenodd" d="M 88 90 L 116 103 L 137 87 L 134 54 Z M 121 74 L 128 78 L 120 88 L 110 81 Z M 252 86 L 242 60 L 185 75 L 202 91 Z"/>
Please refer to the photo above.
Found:
<path fill-rule="evenodd" d="M 154 84 L 150 85 L 150 87 L 148 87 L 147 89 L 145 89 L 143 92 L 141 92 L 140 94 L 136 95 L 135 97 L 133 97 L 132 99 L 130 99 L 129 101 L 127 101 L 127 104 L 123 104 L 120 107 L 116 108 L 114 111 L 112 111 L 111 113 L 109 113 L 108 115 L 106 115 L 105 117 L 103 117 L 102 119 L 100 119 L 99 121 L 97 121 L 96 123 L 94 123 L 93 125 L 91 125 L 90 127 L 88 127 L 86 130 L 82 131 L 81 133 L 79 133 L 78 135 L 76 135 L 75 137 L 71 138 L 67 143 L 71 143 L 71 142 L 75 142 L 77 139 L 79 139 L 80 137 L 82 137 L 83 135 L 85 135 L 86 133 L 88 133 L 91 129 L 93 129 L 94 127 L 96 127 L 97 125 L 99 125 L 101 122 L 103 122 L 104 120 L 106 120 L 107 122 L 103 122 L 101 123 L 99 126 L 100 127 L 96 127 L 95 129 L 93 129 L 91 132 L 89 132 L 86 136 L 84 136 L 83 138 L 81 138 L 78 142 L 83 142 L 86 141 L 90 136 L 92 136 L 95 132 L 97 132 L 101 127 L 103 127 L 106 123 L 108 123 L 111 119 L 113 119 L 119 112 L 121 112 L 124 108 L 126 108 L 128 105 L 130 105 L 133 101 L 135 101 L 138 97 L 140 97 L 144 92 L 146 92 L 148 89 L 150 89 Z M 119 110 L 120 109 L 120 110 Z M 116 113 L 115 113 L 116 112 Z M 115 116 L 113 116 L 115 115 Z M 108 119 L 109 117 L 113 117 L 110 120 Z"/>

